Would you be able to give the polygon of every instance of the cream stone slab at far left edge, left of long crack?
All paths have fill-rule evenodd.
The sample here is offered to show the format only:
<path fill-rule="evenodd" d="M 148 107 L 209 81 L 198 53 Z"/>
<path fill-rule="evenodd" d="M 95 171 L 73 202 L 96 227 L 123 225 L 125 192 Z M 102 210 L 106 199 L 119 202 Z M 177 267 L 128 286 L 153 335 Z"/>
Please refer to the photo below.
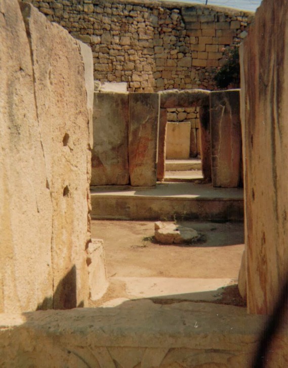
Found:
<path fill-rule="evenodd" d="M 53 206 L 37 119 L 33 66 L 16 0 L 0 1 L 0 312 L 50 297 Z"/>

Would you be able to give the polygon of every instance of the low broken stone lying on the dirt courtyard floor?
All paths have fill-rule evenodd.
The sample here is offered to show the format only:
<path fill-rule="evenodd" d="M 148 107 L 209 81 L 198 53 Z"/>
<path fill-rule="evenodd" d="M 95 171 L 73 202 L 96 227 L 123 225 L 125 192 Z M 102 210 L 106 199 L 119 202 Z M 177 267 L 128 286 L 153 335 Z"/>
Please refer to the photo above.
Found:
<path fill-rule="evenodd" d="M 189 243 L 199 238 L 196 230 L 175 223 L 155 222 L 155 240 L 162 244 Z"/>

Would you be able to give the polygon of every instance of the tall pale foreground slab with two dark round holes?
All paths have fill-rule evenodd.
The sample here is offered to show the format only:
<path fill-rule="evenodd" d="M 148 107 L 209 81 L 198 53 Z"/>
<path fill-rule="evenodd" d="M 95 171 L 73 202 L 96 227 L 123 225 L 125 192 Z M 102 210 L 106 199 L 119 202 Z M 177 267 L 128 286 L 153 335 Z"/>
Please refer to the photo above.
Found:
<path fill-rule="evenodd" d="M 29 4 L 21 4 L 21 10 L 33 65 L 45 189 L 52 205 L 53 307 L 72 308 L 85 305 L 89 298 L 91 93 L 85 76 L 89 71 L 78 41 L 66 30 Z M 47 298 L 38 307 L 45 308 L 46 303 Z"/>

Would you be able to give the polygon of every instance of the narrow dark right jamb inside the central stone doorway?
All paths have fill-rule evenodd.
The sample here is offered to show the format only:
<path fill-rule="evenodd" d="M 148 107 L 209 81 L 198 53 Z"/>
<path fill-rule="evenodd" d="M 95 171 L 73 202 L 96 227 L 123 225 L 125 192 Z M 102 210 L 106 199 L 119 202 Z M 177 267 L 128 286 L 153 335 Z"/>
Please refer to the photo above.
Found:
<path fill-rule="evenodd" d="M 199 129 L 196 130 L 197 151 L 200 148 L 202 174 L 204 179 L 211 180 L 211 134 L 210 105 L 205 101 L 199 107 Z M 198 147 L 200 142 L 200 147 Z"/>

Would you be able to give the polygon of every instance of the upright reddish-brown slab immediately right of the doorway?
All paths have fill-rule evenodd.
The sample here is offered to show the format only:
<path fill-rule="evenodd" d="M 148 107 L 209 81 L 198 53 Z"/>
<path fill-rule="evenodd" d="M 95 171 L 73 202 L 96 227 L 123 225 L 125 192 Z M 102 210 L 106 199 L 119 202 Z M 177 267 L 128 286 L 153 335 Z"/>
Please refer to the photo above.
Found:
<path fill-rule="evenodd" d="M 211 171 L 214 187 L 236 188 L 241 182 L 239 90 L 210 94 Z"/>

